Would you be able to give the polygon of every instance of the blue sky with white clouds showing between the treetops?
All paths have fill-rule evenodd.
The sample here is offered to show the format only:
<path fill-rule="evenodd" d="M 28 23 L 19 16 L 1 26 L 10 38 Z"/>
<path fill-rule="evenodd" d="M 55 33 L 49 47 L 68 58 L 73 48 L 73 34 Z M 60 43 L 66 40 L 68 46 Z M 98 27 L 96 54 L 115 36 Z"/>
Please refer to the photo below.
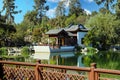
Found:
<path fill-rule="evenodd" d="M 3 7 L 3 0 L 0 0 L 0 11 Z M 47 11 L 46 15 L 49 18 L 55 17 L 55 9 L 59 1 L 63 0 L 46 0 L 49 6 L 49 11 Z M 69 6 L 69 0 L 66 1 L 66 8 Z M 80 0 L 81 7 L 89 14 L 93 11 L 98 11 L 101 6 L 98 6 L 93 0 Z M 15 15 L 15 23 L 21 23 L 24 19 L 24 15 L 28 12 L 33 10 L 34 0 L 15 0 L 15 5 L 18 6 L 16 10 L 22 10 L 21 13 Z M 4 14 L 4 12 L 3 12 Z"/>

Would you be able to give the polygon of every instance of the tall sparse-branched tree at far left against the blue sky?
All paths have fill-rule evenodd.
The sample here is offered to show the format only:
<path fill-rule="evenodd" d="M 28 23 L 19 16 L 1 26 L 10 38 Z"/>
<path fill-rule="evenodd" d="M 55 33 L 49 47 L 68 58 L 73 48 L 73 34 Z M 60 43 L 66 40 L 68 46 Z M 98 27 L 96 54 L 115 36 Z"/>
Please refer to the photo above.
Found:
<path fill-rule="evenodd" d="M 6 23 L 9 23 L 9 24 L 14 23 L 13 14 L 18 14 L 21 12 L 21 10 L 15 11 L 15 8 L 17 8 L 17 6 L 15 6 L 15 0 L 3 0 L 3 4 L 4 5 L 0 13 L 5 10 L 6 11 L 5 12 Z"/>

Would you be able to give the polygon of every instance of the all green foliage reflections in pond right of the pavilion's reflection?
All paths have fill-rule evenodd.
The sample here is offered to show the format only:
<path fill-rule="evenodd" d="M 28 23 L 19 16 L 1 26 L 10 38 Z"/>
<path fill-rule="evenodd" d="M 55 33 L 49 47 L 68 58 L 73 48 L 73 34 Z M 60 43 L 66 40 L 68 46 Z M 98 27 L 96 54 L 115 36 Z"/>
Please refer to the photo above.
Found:
<path fill-rule="evenodd" d="M 120 61 L 120 53 L 113 51 L 100 51 L 97 54 L 92 56 L 86 55 L 83 57 L 83 63 L 85 66 L 90 66 L 90 63 L 95 62 L 97 64 L 97 68 L 104 69 L 120 69 L 119 61 Z"/>

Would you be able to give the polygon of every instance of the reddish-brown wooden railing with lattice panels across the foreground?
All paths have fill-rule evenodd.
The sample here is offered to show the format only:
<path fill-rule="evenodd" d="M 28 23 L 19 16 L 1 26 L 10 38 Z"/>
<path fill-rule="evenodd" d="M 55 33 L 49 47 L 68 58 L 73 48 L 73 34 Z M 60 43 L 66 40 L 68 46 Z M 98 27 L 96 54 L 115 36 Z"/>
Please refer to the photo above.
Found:
<path fill-rule="evenodd" d="M 102 73 L 120 76 L 119 70 L 98 69 L 95 63 L 90 68 L 82 68 L 0 61 L 0 80 L 120 80 L 120 77 L 102 78 Z"/>

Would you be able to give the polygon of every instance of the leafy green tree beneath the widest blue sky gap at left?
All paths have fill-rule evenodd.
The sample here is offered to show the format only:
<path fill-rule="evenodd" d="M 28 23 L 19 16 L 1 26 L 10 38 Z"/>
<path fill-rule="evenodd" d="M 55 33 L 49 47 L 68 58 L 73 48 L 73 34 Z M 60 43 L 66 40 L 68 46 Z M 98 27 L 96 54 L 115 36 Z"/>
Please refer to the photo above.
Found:
<path fill-rule="evenodd" d="M 29 31 L 29 26 L 26 25 L 24 22 L 16 25 L 16 33 L 11 36 L 14 46 L 24 46 L 30 41 L 29 35 L 31 32 Z M 26 36 L 29 38 L 29 41 L 26 40 Z"/>

